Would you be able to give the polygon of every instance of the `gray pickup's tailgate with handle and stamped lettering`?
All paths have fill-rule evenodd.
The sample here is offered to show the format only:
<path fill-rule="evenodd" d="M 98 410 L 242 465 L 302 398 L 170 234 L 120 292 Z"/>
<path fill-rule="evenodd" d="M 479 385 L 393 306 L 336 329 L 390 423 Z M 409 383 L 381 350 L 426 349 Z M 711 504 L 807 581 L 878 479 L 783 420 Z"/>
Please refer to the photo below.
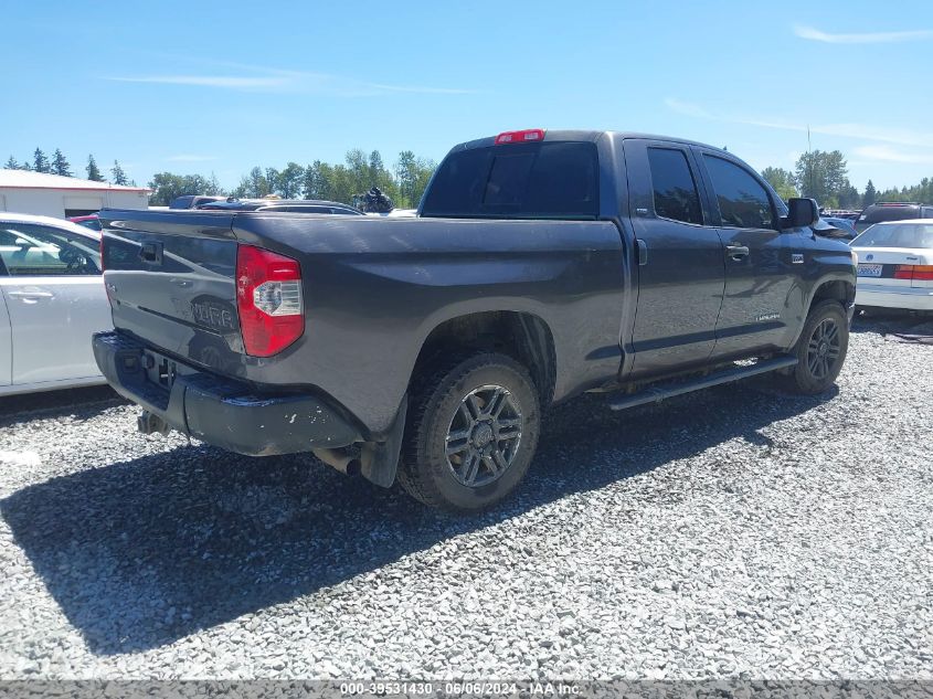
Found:
<path fill-rule="evenodd" d="M 225 212 L 100 212 L 114 327 L 223 373 L 240 373 L 236 248 Z"/>

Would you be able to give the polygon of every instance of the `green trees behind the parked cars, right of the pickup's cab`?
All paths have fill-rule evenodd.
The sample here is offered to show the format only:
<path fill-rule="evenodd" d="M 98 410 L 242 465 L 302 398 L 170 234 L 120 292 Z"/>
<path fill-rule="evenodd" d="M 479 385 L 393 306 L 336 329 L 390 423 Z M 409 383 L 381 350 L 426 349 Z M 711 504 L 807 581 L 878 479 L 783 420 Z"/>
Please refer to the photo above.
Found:
<path fill-rule="evenodd" d="M 871 180 L 859 190 L 849 181 L 846 158 L 839 150 L 814 150 L 797 159 L 794 170 L 765 168 L 766 179 L 782 199 L 808 197 L 827 209 L 863 209 L 877 201 L 933 202 L 933 179 L 919 184 L 879 191 Z"/>

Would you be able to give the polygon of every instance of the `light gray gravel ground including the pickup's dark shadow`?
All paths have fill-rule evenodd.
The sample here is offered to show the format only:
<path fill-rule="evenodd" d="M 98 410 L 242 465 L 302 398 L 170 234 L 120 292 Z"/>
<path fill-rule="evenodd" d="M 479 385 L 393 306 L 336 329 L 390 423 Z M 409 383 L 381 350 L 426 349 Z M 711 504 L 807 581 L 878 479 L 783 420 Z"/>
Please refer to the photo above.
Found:
<path fill-rule="evenodd" d="M 933 347 L 838 391 L 548 416 L 517 498 L 427 511 L 309 457 L 0 403 L 0 678 L 933 680 Z M 886 325 L 887 324 L 887 325 Z"/>

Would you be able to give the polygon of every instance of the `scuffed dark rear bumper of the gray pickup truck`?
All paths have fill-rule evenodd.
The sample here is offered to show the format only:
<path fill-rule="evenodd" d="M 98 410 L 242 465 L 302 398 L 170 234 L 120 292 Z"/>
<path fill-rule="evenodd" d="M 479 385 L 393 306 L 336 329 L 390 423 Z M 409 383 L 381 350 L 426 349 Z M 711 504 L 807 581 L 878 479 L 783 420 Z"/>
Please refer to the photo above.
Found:
<path fill-rule="evenodd" d="M 312 393 L 283 394 L 170 361 L 170 386 L 153 383 L 145 368 L 153 351 L 118 332 L 98 332 L 94 358 L 124 398 L 173 428 L 247 456 L 294 454 L 360 442 L 344 411 Z M 167 382 L 168 383 L 168 382 Z"/>

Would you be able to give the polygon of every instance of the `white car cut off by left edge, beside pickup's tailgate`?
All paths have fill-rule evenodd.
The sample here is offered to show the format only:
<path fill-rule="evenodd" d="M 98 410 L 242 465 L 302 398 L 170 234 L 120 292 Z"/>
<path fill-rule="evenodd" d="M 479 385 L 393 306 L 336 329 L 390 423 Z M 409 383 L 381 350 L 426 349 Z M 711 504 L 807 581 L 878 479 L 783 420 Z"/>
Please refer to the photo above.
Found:
<path fill-rule="evenodd" d="M 0 395 L 105 383 L 91 336 L 112 327 L 99 233 L 0 211 Z"/>

